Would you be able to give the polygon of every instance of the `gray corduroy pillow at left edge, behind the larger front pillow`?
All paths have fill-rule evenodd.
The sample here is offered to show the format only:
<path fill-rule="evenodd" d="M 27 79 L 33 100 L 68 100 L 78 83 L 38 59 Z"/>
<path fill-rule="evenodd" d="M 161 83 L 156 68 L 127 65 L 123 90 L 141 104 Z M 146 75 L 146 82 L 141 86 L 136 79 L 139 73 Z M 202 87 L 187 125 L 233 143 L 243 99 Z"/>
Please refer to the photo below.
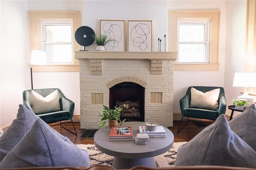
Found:
<path fill-rule="evenodd" d="M 19 105 L 17 118 L 0 138 L 0 162 L 20 142 L 33 123 L 40 119 L 24 105 Z"/>

